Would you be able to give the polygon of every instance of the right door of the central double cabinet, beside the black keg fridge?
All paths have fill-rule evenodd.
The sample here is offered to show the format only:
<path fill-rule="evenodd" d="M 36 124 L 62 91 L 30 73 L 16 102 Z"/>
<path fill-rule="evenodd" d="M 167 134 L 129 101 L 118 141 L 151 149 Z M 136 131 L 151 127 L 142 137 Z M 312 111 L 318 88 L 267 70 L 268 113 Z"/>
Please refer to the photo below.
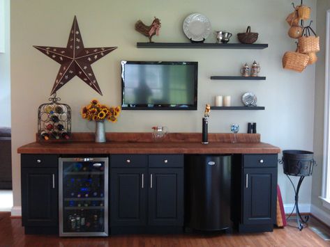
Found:
<path fill-rule="evenodd" d="M 149 168 L 149 225 L 183 225 L 182 168 Z"/>

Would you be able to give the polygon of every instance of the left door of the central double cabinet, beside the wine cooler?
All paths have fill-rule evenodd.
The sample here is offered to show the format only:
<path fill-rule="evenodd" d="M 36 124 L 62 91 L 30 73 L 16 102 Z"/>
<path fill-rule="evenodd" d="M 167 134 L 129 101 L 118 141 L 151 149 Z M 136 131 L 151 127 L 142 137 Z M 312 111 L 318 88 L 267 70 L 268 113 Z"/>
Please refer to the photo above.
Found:
<path fill-rule="evenodd" d="M 146 168 L 110 170 L 111 226 L 146 224 Z"/>

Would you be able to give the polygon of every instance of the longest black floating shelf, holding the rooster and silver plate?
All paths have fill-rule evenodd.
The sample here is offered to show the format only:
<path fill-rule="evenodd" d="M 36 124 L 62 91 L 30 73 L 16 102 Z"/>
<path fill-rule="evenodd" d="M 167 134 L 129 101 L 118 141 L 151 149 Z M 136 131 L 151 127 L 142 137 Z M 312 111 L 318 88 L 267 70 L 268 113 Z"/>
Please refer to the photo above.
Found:
<path fill-rule="evenodd" d="M 268 44 L 137 42 L 137 48 L 265 49 Z"/>

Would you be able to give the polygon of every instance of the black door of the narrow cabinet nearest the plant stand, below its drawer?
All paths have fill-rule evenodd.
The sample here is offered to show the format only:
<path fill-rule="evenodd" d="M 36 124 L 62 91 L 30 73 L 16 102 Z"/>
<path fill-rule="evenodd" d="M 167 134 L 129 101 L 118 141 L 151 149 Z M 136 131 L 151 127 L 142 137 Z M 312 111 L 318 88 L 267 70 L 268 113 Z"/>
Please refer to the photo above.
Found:
<path fill-rule="evenodd" d="M 277 168 L 243 169 L 243 224 L 273 224 Z"/>

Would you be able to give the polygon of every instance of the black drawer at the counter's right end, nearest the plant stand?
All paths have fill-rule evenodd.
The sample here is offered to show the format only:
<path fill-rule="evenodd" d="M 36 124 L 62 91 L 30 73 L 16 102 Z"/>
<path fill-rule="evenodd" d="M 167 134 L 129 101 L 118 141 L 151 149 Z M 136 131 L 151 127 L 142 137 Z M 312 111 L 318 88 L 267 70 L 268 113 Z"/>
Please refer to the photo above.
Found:
<path fill-rule="evenodd" d="M 263 167 L 277 167 L 277 154 L 244 154 L 243 167 L 247 168 L 263 168 Z"/>

